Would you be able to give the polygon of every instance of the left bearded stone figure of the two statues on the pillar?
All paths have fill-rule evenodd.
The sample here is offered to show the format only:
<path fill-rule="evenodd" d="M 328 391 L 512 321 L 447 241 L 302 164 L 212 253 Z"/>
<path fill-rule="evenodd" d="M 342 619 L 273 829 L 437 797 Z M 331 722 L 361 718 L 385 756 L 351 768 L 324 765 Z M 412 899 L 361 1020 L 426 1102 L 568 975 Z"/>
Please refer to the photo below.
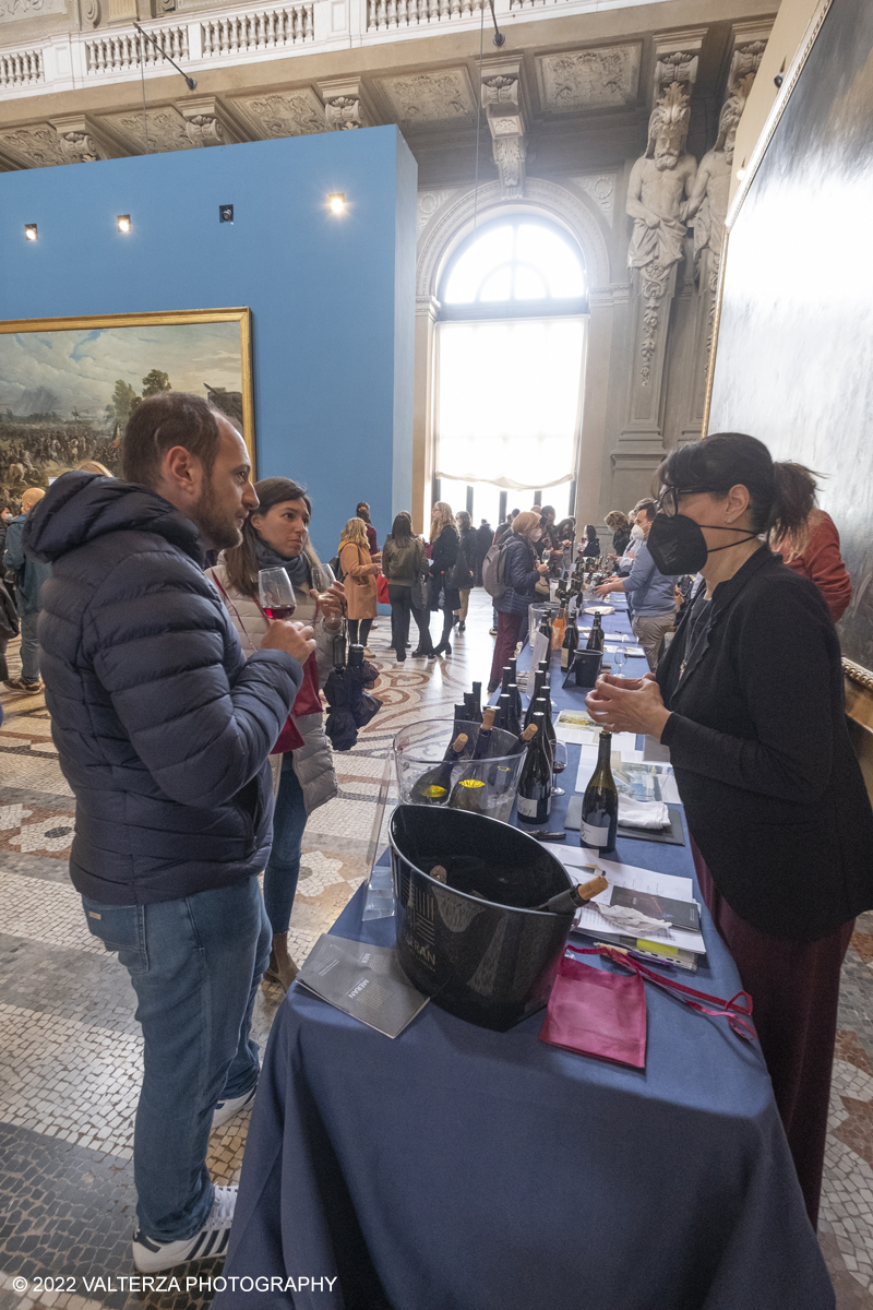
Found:
<path fill-rule="evenodd" d="M 685 153 L 688 119 L 688 97 L 674 83 L 652 111 L 648 148 L 633 165 L 628 185 L 627 212 L 633 219 L 633 233 L 627 262 L 630 269 L 640 270 L 644 386 L 652 380 L 664 296 L 683 255 L 686 217 L 698 172 L 694 156 Z"/>

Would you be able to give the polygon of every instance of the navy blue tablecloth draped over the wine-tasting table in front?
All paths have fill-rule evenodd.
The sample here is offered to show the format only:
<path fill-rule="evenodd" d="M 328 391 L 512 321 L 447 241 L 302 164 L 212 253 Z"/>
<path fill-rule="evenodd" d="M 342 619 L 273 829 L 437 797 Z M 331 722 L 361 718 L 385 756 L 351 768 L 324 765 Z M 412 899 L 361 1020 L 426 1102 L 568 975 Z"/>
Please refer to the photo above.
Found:
<path fill-rule="evenodd" d="M 687 846 L 619 838 L 618 858 L 694 872 Z M 332 931 L 393 945 L 363 904 Z M 739 979 L 703 918 L 705 965 L 677 976 L 726 998 Z M 760 1051 L 656 988 L 647 1002 L 640 1073 L 539 1041 L 542 1015 L 497 1034 L 429 1005 L 391 1041 L 292 988 L 225 1277 L 272 1280 L 257 1303 L 296 1310 L 832 1307 Z M 217 1310 L 250 1310 L 249 1288 Z"/>

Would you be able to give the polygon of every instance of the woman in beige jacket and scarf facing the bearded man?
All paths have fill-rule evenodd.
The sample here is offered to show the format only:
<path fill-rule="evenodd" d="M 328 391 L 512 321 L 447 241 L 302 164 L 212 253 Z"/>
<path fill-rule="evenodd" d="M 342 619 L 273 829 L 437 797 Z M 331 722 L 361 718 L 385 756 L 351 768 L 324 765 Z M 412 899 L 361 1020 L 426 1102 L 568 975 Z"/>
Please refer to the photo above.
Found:
<path fill-rule="evenodd" d="M 291 478 L 264 478 L 255 491 L 260 503 L 242 527 L 241 545 L 225 550 L 208 576 L 246 655 L 260 648 L 271 617 L 293 617 L 315 631 L 304 684 L 270 757 L 275 808 L 263 895 L 272 950 L 264 977 L 287 990 L 297 973 L 288 952 L 288 925 L 304 828 L 313 810 L 338 793 L 318 690 L 332 667 L 331 643 L 342 627 L 344 592 L 309 544 L 312 502 L 304 489 Z"/>

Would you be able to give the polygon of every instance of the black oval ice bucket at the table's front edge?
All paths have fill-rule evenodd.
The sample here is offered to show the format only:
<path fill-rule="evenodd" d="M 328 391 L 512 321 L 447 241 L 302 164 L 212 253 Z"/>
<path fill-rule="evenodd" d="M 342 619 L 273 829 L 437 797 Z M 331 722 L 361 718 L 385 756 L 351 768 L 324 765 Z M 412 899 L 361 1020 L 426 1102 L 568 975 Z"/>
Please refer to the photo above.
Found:
<path fill-rule="evenodd" d="M 499 1032 L 542 1009 L 573 914 L 533 907 L 571 886 L 560 861 L 509 824 L 442 807 L 398 806 L 389 841 L 397 948 L 415 986 Z"/>

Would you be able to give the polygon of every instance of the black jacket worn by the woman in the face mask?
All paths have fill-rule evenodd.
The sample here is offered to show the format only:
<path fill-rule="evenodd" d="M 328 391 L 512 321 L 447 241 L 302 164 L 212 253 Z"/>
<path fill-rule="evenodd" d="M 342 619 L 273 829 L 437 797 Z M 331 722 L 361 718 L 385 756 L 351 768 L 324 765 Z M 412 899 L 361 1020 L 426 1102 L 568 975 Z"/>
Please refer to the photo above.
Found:
<path fill-rule="evenodd" d="M 815 586 L 762 546 L 712 597 L 681 675 L 658 664 L 662 741 L 713 882 L 762 933 L 825 937 L 873 907 L 873 812 L 849 743 L 840 648 Z"/>

